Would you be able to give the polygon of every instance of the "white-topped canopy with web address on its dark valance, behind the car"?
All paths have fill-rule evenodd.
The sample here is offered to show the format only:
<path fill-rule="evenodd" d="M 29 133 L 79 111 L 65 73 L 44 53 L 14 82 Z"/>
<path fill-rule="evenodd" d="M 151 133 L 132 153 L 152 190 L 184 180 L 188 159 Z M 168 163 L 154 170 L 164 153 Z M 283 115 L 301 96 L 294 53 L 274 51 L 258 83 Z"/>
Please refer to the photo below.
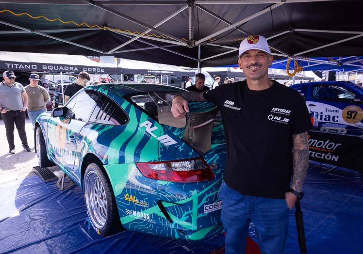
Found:
<path fill-rule="evenodd" d="M 149 63 L 144 61 L 120 59 L 118 64 L 124 74 L 149 74 L 149 75 L 172 75 L 172 76 L 194 76 L 194 71 L 187 71 L 179 66 Z"/>

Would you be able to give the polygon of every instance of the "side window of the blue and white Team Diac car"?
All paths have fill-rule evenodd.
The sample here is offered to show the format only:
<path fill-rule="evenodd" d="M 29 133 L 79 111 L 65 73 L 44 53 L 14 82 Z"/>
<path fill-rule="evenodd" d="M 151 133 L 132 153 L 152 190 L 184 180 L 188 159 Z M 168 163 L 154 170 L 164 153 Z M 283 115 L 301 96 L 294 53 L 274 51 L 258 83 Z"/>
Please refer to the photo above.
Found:
<path fill-rule="evenodd" d="M 347 102 L 355 99 L 355 95 L 342 86 L 314 85 L 313 97 L 319 100 Z"/>

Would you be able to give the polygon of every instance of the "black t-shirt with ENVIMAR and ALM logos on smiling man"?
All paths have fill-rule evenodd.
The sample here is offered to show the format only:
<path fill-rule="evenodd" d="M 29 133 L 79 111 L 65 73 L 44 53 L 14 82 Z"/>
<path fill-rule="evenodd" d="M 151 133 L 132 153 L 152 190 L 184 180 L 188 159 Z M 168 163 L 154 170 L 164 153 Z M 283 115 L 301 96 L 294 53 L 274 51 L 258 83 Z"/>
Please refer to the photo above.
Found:
<path fill-rule="evenodd" d="M 241 194 L 285 198 L 292 175 L 292 135 L 312 128 L 304 98 L 274 81 L 250 90 L 239 81 L 204 93 L 223 118 L 227 160 L 224 180 Z"/>

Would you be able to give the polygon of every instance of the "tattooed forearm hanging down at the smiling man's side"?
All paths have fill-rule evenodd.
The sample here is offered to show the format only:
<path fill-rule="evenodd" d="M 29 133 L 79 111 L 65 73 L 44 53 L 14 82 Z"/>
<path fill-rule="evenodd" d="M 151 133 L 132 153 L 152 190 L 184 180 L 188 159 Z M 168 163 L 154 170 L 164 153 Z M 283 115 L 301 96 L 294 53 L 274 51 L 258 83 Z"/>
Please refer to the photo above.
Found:
<path fill-rule="evenodd" d="M 293 155 L 293 184 L 296 191 L 302 190 L 306 173 L 309 168 L 309 144 L 308 133 L 303 132 L 293 135 L 294 155 Z"/>

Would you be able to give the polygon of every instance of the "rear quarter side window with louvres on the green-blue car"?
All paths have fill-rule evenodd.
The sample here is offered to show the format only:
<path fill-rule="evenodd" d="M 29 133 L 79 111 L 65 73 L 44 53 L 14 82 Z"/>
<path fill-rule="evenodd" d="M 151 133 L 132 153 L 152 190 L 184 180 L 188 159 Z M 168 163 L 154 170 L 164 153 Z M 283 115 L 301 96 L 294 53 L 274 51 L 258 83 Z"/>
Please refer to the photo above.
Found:
<path fill-rule="evenodd" d="M 89 121 L 105 125 L 125 125 L 129 117 L 112 99 L 101 95 Z"/>

